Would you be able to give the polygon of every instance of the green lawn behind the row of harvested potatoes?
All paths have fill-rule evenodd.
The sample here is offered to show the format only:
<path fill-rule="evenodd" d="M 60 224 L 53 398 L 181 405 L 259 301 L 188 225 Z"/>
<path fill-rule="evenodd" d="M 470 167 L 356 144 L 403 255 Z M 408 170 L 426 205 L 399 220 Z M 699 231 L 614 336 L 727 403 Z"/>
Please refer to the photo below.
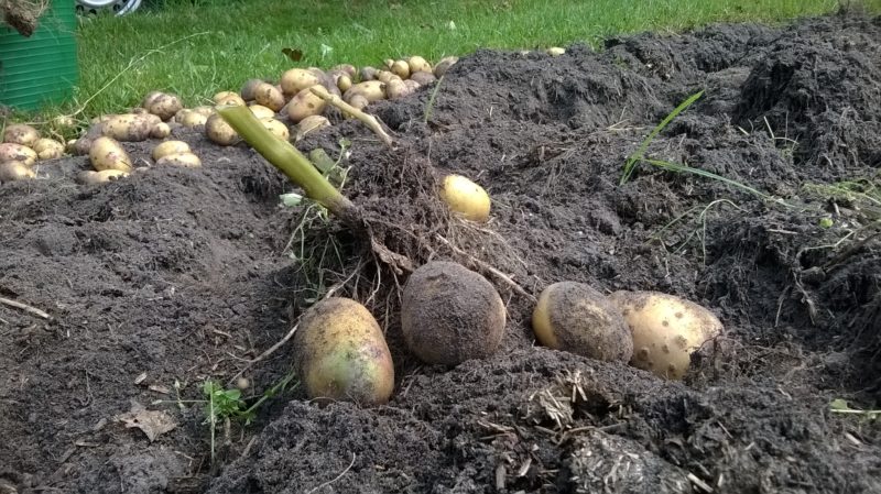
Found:
<path fill-rule="evenodd" d="M 619 33 L 681 31 L 719 21 L 776 22 L 834 11 L 838 0 L 185 0 L 79 29 L 86 116 L 137 105 L 152 89 L 196 105 L 250 77 L 297 64 L 378 65 L 420 54 L 429 61 L 478 47 L 540 48 L 597 43 Z M 881 0 L 868 0 L 881 9 Z M 65 109 L 67 110 L 67 109 Z"/>

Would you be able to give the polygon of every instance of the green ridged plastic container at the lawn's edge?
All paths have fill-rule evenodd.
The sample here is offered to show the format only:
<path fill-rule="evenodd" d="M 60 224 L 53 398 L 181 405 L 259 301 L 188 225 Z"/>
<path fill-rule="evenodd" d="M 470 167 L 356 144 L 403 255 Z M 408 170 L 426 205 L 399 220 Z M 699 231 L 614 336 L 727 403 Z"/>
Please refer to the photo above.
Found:
<path fill-rule="evenodd" d="M 73 96 L 79 83 L 74 0 L 52 0 L 24 37 L 0 20 L 0 106 L 37 110 Z"/>

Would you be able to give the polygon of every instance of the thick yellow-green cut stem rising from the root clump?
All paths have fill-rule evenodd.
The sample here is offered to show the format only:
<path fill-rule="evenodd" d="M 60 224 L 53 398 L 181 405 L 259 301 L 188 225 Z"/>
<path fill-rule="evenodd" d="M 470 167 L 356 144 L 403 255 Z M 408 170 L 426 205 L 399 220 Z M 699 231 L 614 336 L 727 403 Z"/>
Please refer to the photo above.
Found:
<path fill-rule="evenodd" d="M 220 106 L 217 112 L 239 135 L 273 166 L 349 226 L 362 228 L 360 210 L 315 169 L 290 142 L 272 135 L 248 107 Z"/>

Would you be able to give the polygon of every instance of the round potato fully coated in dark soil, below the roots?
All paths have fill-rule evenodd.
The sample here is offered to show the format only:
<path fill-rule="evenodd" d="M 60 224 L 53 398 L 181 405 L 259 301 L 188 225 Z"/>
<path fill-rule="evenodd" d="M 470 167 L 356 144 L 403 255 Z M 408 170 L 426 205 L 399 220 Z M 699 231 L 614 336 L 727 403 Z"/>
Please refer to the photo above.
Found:
<path fill-rule="evenodd" d="M 493 354 L 504 336 L 504 304 L 492 284 L 461 264 L 429 262 L 404 286 L 404 342 L 431 364 L 457 365 Z"/>

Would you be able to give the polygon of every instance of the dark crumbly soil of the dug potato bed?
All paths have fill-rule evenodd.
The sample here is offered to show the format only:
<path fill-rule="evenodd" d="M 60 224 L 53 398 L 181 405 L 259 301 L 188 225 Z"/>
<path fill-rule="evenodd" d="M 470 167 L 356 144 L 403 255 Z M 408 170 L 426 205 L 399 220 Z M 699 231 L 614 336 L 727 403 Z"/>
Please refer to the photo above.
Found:
<path fill-rule="evenodd" d="M 700 89 L 648 155 L 764 196 L 645 163 L 619 185 Z M 533 295 L 568 279 L 711 309 L 725 338 L 685 382 L 536 347 L 533 303 L 488 273 L 508 308 L 500 350 L 420 365 L 400 333 L 405 272 L 335 220 L 281 208 L 294 188 L 252 151 L 181 132 L 203 168 L 81 186 L 85 158 L 70 158 L 0 187 L 0 297 L 52 316 L 0 305 L 0 492 L 881 492 L 879 420 L 829 410 L 881 406 L 881 18 L 645 34 L 556 58 L 481 51 L 443 80 L 426 124 L 431 94 L 371 107 L 393 153 L 351 121 L 300 147 L 336 155 L 351 140 L 344 190 L 414 264 L 477 259 Z M 445 172 L 488 188 L 488 226 L 444 213 Z M 870 194 L 828 187 L 842 182 Z M 178 408 L 177 389 L 226 384 L 344 279 L 336 293 L 387 331 L 392 400 L 319 407 L 285 391 L 253 424 L 218 428 L 211 468 L 205 407 Z M 246 371 L 249 403 L 292 354 Z M 176 428 L 152 441 L 126 428 L 133 404 Z"/>

